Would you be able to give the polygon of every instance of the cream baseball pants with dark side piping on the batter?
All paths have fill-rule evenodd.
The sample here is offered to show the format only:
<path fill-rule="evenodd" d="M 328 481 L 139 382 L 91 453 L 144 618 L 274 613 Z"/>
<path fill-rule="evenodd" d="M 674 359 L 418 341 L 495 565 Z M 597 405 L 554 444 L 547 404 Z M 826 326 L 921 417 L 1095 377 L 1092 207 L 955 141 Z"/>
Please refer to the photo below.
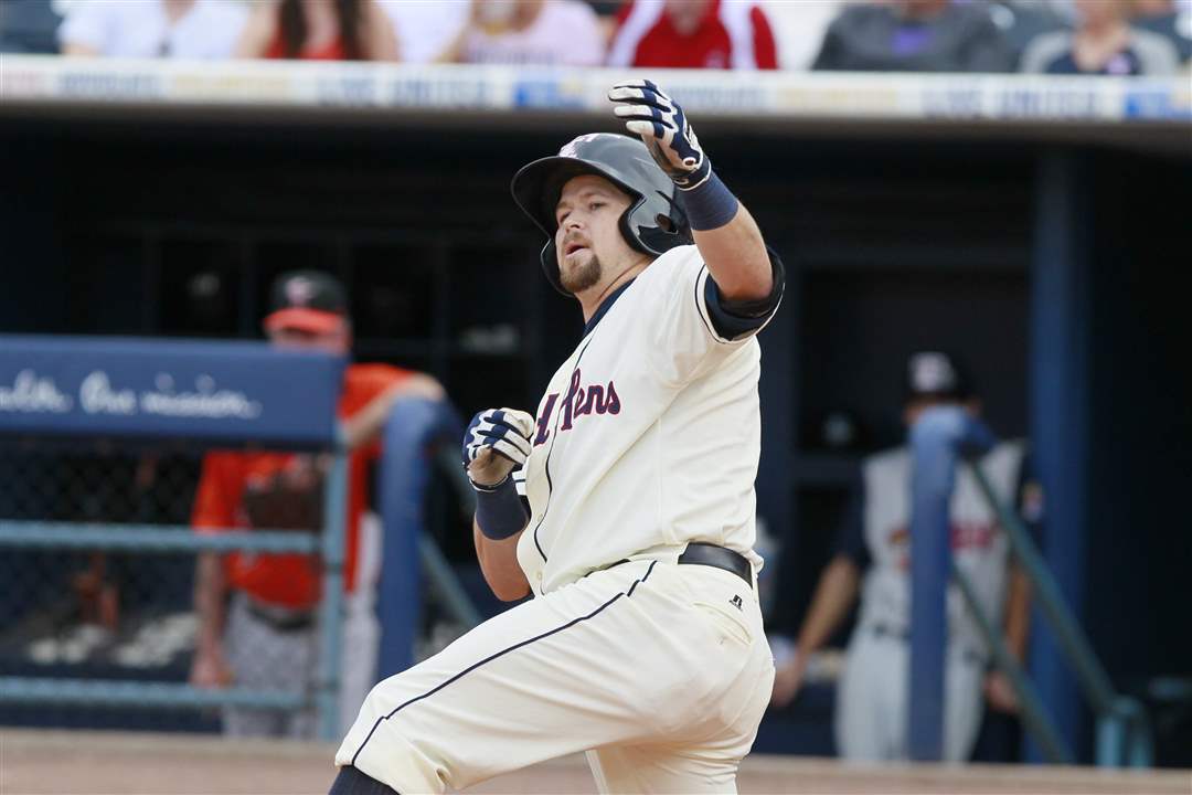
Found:
<path fill-rule="evenodd" d="M 415 795 L 591 751 L 602 793 L 735 793 L 772 683 L 755 589 L 634 560 L 374 687 L 335 762 Z"/>

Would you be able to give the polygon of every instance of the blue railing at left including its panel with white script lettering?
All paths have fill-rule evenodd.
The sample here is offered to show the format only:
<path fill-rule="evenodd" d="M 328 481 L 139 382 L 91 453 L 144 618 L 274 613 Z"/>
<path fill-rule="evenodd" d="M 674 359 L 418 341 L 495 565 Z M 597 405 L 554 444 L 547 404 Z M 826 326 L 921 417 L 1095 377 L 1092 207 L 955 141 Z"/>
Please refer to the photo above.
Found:
<path fill-rule="evenodd" d="M 0 677 L 0 704 L 118 708 L 315 708 L 339 733 L 347 454 L 336 420 L 344 361 L 261 343 L 0 336 L 0 435 L 113 445 L 186 440 L 330 455 L 319 533 L 286 528 L 199 534 L 188 526 L 54 522 L 0 516 L 0 549 L 132 555 L 253 552 L 316 555 L 322 569 L 313 690 L 195 688 L 184 682 Z"/>

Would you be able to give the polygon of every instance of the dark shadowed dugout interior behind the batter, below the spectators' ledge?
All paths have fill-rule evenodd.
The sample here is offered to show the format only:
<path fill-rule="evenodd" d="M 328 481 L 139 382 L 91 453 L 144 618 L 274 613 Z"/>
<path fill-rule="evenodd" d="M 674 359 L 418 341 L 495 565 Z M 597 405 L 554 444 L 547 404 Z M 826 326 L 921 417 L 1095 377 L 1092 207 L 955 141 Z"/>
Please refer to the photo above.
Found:
<path fill-rule="evenodd" d="M 0 330 L 254 339 L 272 277 L 324 267 L 349 286 L 358 358 L 432 372 L 465 416 L 532 405 L 581 321 L 541 278 L 508 181 L 614 129 L 589 105 L 7 100 Z M 1030 107 L 691 110 L 788 265 L 763 337 L 771 623 L 797 626 L 859 455 L 899 437 L 906 354 L 946 344 L 991 426 L 1041 448 L 1048 558 L 1119 687 L 1144 689 L 1192 671 L 1192 132 Z M 851 447 L 824 442 L 836 411 L 856 418 Z M 471 554 L 464 530 L 441 540 Z M 1062 663 L 1045 642 L 1032 656 L 1075 738 L 1087 721 Z M 1192 745 L 1160 740 L 1160 763 L 1190 763 Z"/>

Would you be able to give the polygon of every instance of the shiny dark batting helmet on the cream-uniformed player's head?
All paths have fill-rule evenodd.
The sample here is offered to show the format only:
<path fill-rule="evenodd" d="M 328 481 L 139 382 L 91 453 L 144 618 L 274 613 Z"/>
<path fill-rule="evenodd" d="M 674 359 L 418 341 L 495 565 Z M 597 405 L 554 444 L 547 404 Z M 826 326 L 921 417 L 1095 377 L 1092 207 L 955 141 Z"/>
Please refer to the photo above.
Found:
<path fill-rule="evenodd" d="M 514 201 L 546 232 L 542 271 L 563 294 L 571 293 L 563 288 L 554 255 L 558 229 L 554 207 L 566 181 L 581 174 L 603 176 L 633 199 L 621 216 L 621 235 L 634 249 L 657 256 L 691 242 L 678 188 L 658 168 L 646 144 L 639 138 L 613 132 L 582 135 L 563 147 L 558 155 L 522 167 L 510 185 Z"/>

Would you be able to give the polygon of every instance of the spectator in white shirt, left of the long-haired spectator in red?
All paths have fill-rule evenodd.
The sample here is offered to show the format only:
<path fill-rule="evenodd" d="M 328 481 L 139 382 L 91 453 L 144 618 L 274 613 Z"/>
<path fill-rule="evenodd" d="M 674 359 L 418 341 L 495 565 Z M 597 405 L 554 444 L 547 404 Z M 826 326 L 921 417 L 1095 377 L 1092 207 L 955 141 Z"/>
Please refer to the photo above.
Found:
<path fill-rule="evenodd" d="M 224 0 L 87 0 L 58 29 L 63 55 L 228 58 L 248 10 Z"/>

